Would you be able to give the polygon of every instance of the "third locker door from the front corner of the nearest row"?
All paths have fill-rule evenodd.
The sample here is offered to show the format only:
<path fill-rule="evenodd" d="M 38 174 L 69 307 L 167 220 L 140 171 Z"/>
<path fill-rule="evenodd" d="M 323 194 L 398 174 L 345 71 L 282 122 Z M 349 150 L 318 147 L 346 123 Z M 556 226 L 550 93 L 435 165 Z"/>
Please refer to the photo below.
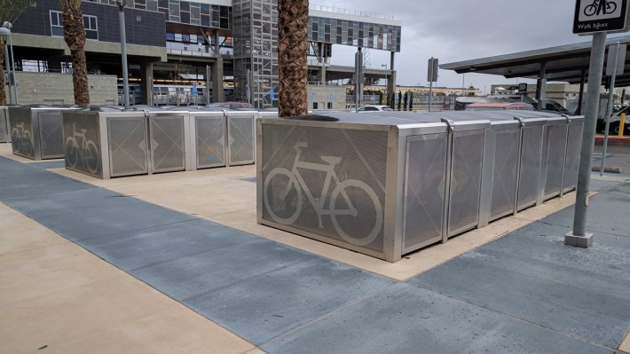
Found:
<path fill-rule="evenodd" d="M 514 214 L 520 152 L 520 123 L 492 121 L 484 139 L 479 227 Z"/>

